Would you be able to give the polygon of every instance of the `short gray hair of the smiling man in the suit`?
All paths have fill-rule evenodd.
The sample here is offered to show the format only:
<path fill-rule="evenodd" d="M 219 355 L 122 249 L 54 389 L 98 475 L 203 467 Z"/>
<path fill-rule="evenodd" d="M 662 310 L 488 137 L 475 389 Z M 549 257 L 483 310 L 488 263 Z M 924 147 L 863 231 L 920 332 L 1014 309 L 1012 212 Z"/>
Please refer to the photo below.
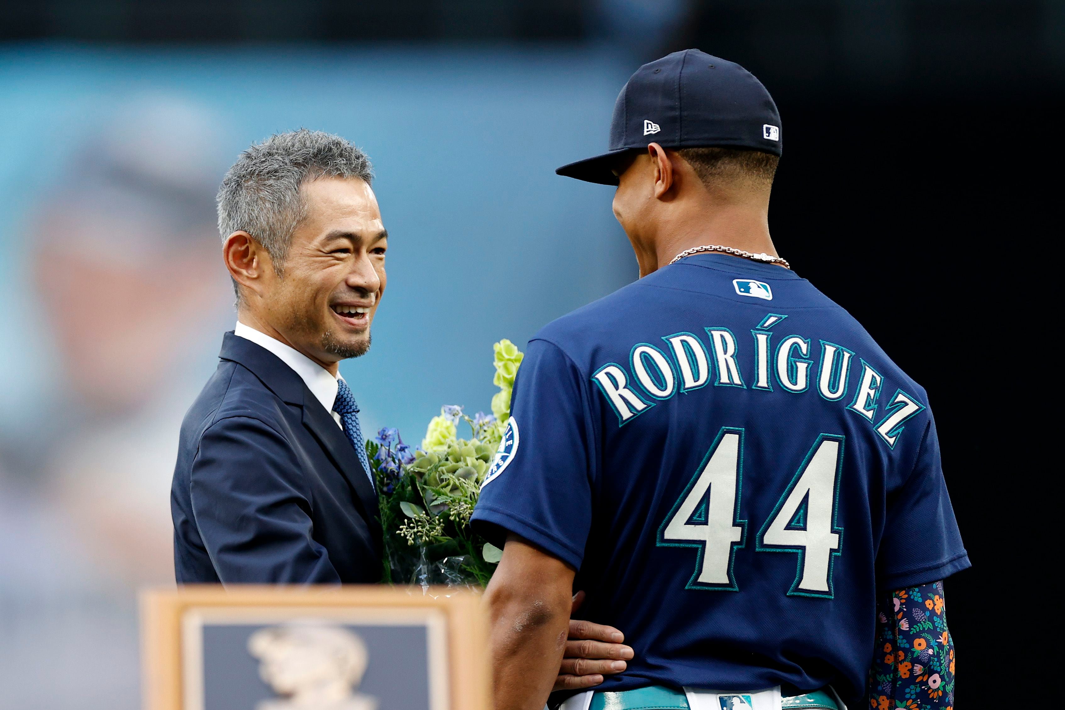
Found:
<path fill-rule="evenodd" d="M 364 152 L 332 133 L 301 128 L 252 144 L 218 188 L 223 241 L 233 232 L 247 232 L 266 249 L 280 276 L 292 233 L 307 216 L 299 188 L 324 177 L 359 178 L 370 184 L 374 171 Z"/>

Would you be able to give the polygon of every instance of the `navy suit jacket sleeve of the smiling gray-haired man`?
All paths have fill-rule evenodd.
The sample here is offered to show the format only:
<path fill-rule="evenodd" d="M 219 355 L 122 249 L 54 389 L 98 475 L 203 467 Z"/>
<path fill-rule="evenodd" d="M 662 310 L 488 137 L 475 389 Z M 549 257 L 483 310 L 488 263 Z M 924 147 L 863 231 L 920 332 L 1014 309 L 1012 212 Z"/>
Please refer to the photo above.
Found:
<path fill-rule="evenodd" d="M 310 493 L 285 439 L 251 417 L 203 432 L 192 466 L 196 525 L 225 584 L 339 584 L 311 536 Z"/>

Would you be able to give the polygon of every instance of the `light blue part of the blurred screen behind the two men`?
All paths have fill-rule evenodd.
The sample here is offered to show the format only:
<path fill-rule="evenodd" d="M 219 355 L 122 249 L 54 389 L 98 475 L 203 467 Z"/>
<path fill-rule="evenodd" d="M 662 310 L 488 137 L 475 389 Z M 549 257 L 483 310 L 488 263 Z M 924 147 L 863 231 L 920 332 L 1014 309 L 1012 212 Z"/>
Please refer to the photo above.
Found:
<path fill-rule="evenodd" d="M 0 95 L 18 110 L 0 111 L 0 327 L 47 339 L 20 283 L 45 236 L 28 222 L 55 184 L 70 182 L 64 174 L 86 144 L 103 152 L 92 144 L 142 133 L 148 152 L 136 160 L 158 150 L 161 162 L 192 162 L 194 152 L 193 167 L 219 179 L 251 142 L 308 127 L 370 154 L 392 237 L 374 346 L 342 366 L 368 426 L 411 437 L 442 403 L 487 409 L 494 341 L 521 345 L 635 278 L 611 191 L 554 175 L 605 148 L 627 79 L 626 63 L 611 59 L 557 48 L 3 51 Z M 218 333 L 203 331 L 213 353 Z M 51 367 L 40 353 L 5 348 L 0 358 L 7 401 L 35 399 L 35 380 L 51 378 L 38 371 Z"/>

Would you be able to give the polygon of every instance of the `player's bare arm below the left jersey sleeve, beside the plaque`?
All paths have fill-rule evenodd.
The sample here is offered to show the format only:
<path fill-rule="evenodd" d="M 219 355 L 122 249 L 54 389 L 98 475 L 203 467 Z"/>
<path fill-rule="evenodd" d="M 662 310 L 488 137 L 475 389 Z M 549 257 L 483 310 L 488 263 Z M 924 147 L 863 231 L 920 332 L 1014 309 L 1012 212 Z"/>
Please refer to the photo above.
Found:
<path fill-rule="evenodd" d="M 485 592 L 495 710 L 542 710 L 562 662 L 574 569 L 511 533 Z"/>

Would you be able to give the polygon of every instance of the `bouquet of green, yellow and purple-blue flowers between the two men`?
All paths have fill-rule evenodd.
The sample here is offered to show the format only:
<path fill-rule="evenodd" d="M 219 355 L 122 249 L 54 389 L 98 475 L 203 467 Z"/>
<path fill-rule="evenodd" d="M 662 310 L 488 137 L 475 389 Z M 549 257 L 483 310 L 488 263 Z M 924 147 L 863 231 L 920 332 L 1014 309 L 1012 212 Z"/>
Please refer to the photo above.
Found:
<path fill-rule="evenodd" d="M 366 442 L 384 531 L 383 581 L 400 584 L 488 583 L 503 551 L 473 532 L 470 517 L 510 417 L 510 393 L 522 362 L 513 343 L 496 343 L 492 414 L 472 418 L 446 406 L 412 450 L 396 429 Z M 459 439 L 459 426 L 470 439 Z"/>

